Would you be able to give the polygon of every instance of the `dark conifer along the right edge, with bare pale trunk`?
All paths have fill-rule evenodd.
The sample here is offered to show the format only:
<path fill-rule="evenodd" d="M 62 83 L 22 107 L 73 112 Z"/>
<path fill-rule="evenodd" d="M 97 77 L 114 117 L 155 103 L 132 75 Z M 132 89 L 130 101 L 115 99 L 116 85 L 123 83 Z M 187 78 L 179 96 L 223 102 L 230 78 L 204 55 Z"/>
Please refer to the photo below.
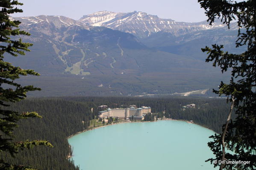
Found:
<path fill-rule="evenodd" d="M 231 54 L 223 51 L 223 45 L 206 46 L 206 62 L 213 62 L 222 72 L 231 70 L 229 84 L 221 82 L 219 89 L 214 90 L 219 95 L 226 95 L 231 102 L 227 123 L 221 134 L 211 136 L 214 141 L 209 147 L 216 158 L 208 161 L 222 160 L 220 170 L 254 170 L 256 167 L 256 0 L 236 2 L 234 0 L 198 0 L 206 10 L 210 25 L 215 19 L 227 24 L 230 29 L 231 21 L 238 26 L 236 47 L 247 46 L 242 54 Z M 235 108 L 236 118 L 231 119 L 232 109 Z M 232 152 L 227 152 L 231 150 Z M 247 164 L 226 164 L 225 161 L 248 161 Z"/>

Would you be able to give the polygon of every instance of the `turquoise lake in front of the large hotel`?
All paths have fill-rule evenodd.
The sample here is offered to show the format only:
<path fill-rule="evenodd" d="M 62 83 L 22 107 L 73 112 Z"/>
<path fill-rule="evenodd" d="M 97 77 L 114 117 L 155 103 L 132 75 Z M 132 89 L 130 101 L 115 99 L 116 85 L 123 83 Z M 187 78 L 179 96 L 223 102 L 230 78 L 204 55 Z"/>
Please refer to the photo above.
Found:
<path fill-rule="evenodd" d="M 114 124 L 69 138 L 80 170 L 215 170 L 212 130 L 184 121 Z"/>

